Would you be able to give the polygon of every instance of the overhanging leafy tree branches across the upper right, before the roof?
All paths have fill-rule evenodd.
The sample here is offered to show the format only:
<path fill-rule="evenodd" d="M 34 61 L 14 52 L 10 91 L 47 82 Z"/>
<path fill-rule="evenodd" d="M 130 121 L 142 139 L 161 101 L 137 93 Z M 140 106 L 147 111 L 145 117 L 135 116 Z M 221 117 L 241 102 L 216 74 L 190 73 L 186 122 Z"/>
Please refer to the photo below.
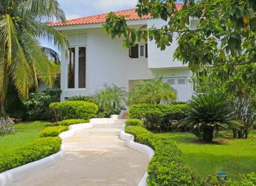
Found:
<path fill-rule="evenodd" d="M 240 71 L 242 78 L 255 88 L 256 1 L 183 0 L 183 3 L 177 4 L 176 0 L 139 0 L 138 16 L 151 15 L 154 19 L 163 19 L 165 22 L 158 28 L 147 28 L 146 25 L 138 29 L 129 28 L 126 17 L 113 12 L 103 27 L 112 38 L 124 37 L 127 48 L 137 41 L 147 42 L 149 39 L 164 50 L 176 37 L 175 58 L 188 64 L 195 73 L 200 71 L 200 67 L 206 70 L 221 67 L 223 70 L 218 78 L 222 78 L 236 73 L 234 67 L 241 66 L 244 67 Z"/>

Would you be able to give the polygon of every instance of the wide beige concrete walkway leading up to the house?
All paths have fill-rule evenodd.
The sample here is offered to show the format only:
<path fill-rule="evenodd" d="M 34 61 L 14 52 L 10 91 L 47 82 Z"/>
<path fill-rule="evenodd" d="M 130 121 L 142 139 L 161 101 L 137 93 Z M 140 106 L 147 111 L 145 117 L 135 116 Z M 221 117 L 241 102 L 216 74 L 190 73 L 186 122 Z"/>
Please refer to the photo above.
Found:
<path fill-rule="evenodd" d="M 147 157 L 124 146 L 120 126 L 78 130 L 64 140 L 66 157 L 13 186 L 138 185 Z"/>

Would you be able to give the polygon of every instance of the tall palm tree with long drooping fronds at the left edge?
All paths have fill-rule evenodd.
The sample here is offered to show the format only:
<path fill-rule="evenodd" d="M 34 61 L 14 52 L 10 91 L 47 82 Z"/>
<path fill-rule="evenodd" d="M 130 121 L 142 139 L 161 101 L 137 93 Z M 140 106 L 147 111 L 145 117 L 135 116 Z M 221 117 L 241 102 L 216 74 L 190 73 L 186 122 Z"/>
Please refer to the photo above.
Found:
<path fill-rule="evenodd" d="M 38 44 L 44 38 L 67 55 L 67 40 L 45 22 L 65 22 L 56 0 L 1 0 L 0 2 L 0 99 L 1 113 L 8 84 L 12 82 L 19 96 L 28 97 L 38 79 L 50 86 L 54 83 L 53 67 Z M 10 120 L 11 121 L 11 120 Z"/>

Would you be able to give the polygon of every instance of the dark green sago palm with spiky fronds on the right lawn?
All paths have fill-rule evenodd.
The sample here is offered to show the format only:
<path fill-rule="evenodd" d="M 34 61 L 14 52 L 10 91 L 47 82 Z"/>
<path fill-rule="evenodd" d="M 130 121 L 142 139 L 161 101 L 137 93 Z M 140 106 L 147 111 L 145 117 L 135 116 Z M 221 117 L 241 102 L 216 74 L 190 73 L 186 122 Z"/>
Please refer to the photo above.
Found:
<path fill-rule="evenodd" d="M 188 126 L 192 132 L 205 142 L 211 142 L 214 129 L 241 126 L 234 109 L 227 104 L 227 96 L 209 93 L 193 96 L 190 109 L 180 126 Z"/>

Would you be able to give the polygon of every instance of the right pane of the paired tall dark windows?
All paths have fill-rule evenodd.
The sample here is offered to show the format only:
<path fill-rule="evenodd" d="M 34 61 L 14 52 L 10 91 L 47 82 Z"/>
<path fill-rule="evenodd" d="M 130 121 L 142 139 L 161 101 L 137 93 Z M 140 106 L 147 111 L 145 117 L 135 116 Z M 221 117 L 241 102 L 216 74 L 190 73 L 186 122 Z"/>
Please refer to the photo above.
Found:
<path fill-rule="evenodd" d="M 86 87 L 86 47 L 79 47 L 79 88 Z"/>

